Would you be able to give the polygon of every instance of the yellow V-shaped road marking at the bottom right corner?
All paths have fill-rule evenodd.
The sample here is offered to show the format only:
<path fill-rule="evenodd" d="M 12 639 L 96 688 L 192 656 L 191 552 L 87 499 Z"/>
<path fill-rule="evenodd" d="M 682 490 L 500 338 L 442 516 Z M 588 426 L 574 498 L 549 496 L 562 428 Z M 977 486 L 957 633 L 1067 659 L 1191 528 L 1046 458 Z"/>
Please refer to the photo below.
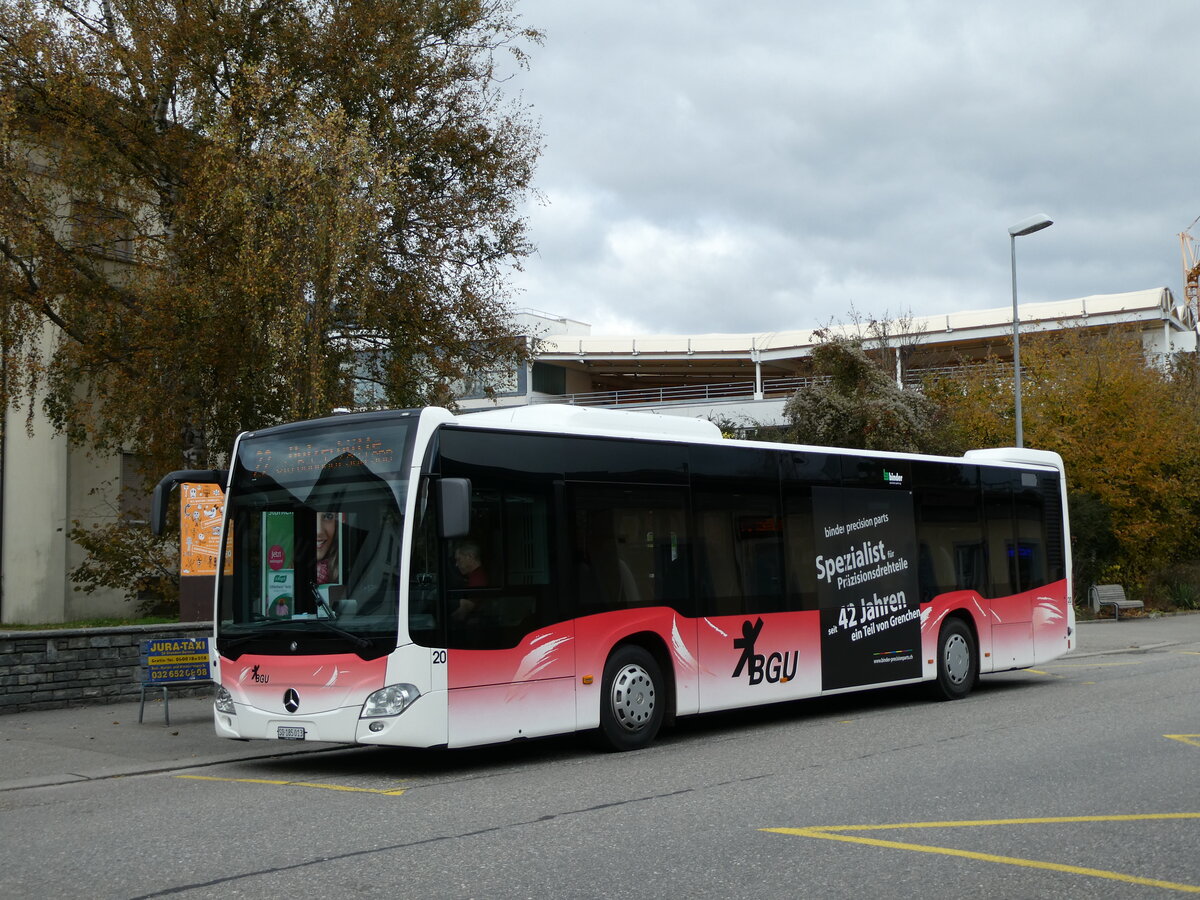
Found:
<path fill-rule="evenodd" d="M 763 828 L 764 832 L 776 834 L 791 834 L 799 838 L 820 838 L 830 841 L 845 841 L 847 844 L 865 844 L 871 847 L 888 847 L 892 850 L 908 850 L 917 853 L 940 853 L 942 856 L 962 857 L 965 859 L 978 859 L 984 863 L 998 863 L 1003 865 L 1016 865 L 1026 869 L 1044 869 L 1069 875 L 1086 875 L 1093 878 L 1105 878 L 1108 881 L 1120 881 L 1127 884 L 1145 884 L 1147 887 L 1165 888 L 1168 890 L 1180 890 L 1187 894 L 1200 894 L 1200 884 L 1181 884 L 1174 881 L 1160 881 L 1158 878 L 1142 878 L 1136 875 L 1114 872 L 1106 869 L 1090 869 L 1081 865 L 1063 865 L 1061 863 L 1045 863 L 1039 859 L 1022 859 L 1020 857 L 1004 857 L 995 853 L 977 853 L 970 850 L 956 850 L 954 847 L 935 847 L 928 844 L 906 844 L 902 841 L 886 841 L 876 838 L 864 838 L 841 832 L 877 832 L 886 829 L 911 829 L 911 828 L 980 828 L 988 826 L 1007 824 L 1070 824 L 1078 822 L 1148 822 L 1180 818 L 1200 818 L 1200 812 L 1151 812 L 1127 816 L 1061 816 L 1055 818 L 991 818 L 974 820 L 965 822 L 904 822 L 895 824 L 877 826 L 814 826 L 810 828 Z"/>

